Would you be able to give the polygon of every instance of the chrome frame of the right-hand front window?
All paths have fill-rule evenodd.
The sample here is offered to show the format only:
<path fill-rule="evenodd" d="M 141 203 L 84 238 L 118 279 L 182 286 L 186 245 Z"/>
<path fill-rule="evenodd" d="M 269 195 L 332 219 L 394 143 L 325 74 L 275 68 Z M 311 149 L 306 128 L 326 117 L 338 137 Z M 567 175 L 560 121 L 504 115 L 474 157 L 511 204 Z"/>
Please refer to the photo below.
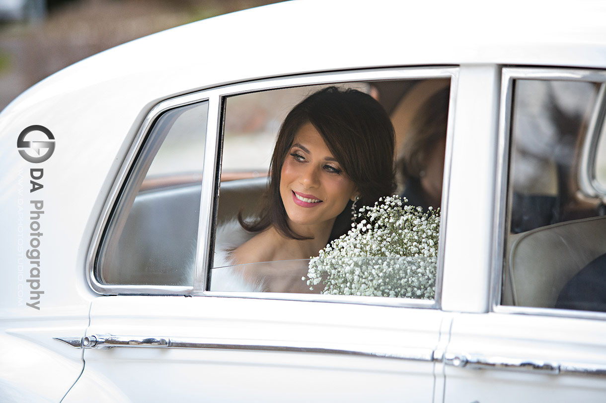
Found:
<path fill-rule="evenodd" d="M 511 117 L 513 106 L 513 83 L 514 80 L 567 80 L 602 83 L 602 89 L 606 83 L 606 71 L 589 70 L 581 68 L 564 67 L 504 67 L 501 71 L 501 102 L 499 106 L 499 131 L 498 131 L 498 154 L 497 154 L 497 177 L 495 182 L 495 192 L 499 197 L 495 198 L 493 228 L 495 229 L 493 237 L 492 252 L 492 274 L 490 286 L 490 310 L 496 313 L 518 313 L 522 315 L 542 315 L 542 316 L 565 316 L 572 318 L 587 319 L 606 319 L 606 313 L 588 312 L 581 310 L 568 310 L 544 307 L 524 307 L 501 305 L 501 292 L 503 287 L 503 272 L 505 270 L 505 232 L 507 223 L 510 220 L 510 209 L 507 205 L 507 196 L 511 192 L 511 185 L 508 183 L 510 170 L 510 140 L 511 140 Z M 599 113 L 599 93 L 596 98 L 597 108 L 594 108 L 590 122 L 595 122 L 596 113 Z M 586 136 L 593 136 L 595 125 L 587 128 Z M 585 141 L 584 147 L 587 146 Z M 588 152 L 588 150 L 587 150 Z M 585 157 L 585 149 L 582 158 Z M 587 160 L 582 160 L 582 163 Z"/>

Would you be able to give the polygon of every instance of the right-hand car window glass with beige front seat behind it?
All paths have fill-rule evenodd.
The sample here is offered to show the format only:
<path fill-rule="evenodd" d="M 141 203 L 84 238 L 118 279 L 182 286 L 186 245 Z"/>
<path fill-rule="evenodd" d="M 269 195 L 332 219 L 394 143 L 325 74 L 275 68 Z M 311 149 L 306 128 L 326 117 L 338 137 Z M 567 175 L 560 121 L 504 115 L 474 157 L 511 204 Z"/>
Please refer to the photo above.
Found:
<path fill-rule="evenodd" d="M 604 195 L 582 185 L 584 149 L 604 169 L 600 83 L 512 85 L 502 303 L 606 311 Z"/>

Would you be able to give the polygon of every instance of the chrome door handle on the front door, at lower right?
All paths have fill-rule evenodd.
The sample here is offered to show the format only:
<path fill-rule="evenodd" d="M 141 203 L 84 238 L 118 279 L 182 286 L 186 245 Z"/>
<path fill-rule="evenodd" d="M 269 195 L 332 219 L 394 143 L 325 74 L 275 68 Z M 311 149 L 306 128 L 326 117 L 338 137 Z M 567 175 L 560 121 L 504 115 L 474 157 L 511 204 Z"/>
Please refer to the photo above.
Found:
<path fill-rule="evenodd" d="M 560 373 L 560 365 L 558 363 L 533 359 L 445 353 L 443 361 L 446 365 L 468 369 L 500 369 L 521 372 L 541 372 L 554 375 Z"/>

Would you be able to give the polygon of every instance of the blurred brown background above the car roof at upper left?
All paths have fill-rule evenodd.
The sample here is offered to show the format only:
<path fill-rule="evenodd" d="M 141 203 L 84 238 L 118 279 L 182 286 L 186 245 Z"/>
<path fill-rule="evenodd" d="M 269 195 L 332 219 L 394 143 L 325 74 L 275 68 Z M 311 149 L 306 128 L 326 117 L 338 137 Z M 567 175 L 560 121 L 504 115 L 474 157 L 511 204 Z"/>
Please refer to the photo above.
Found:
<path fill-rule="evenodd" d="M 85 57 L 188 22 L 279 0 L 0 0 L 0 111 Z"/>

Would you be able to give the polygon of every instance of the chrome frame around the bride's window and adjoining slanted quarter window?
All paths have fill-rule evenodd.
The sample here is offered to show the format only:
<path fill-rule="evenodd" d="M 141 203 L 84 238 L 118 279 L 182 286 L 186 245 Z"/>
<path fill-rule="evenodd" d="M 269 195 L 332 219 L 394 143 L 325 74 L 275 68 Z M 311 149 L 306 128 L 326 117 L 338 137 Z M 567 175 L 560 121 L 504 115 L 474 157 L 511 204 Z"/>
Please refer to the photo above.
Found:
<path fill-rule="evenodd" d="M 317 301 L 330 303 L 353 303 L 380 306 L 405 306 L 417 308 L 439 309 L 441 307 L 442 272 L 444 270 L 444 244 L 445 226 L 448 205 L 448 183 L 450 183 L 450 161 L 452 155 L 452 141 L 447 140 L 447 149 L 444 162 L 444 186 L 442 196 L 442 220 L 440 226 L 440 246 L 438 251 L 438 270 L 436 274 L 436 297 L 433 301 L 413 300 L 407 298 L 387 297 L 353 297 L 345 295 L 309 295 L 298 293 L 269 293 L 269 292 L 221 292 L 207 291 L 207 272 L 211 263 L 211 248 L 214 249 L 215 209 L 218 200 L 218 186 L 221 177 L 221 142 L 222 121 L 224 119 L 224 100 L 228 96 L 253 93 L 258 91 L 278 90 L 289 87 L 302 87 L 308 85 L 338 84 L 344 82 L 376 82 L 381 80 L 422 80 L 422 79 L 450 79 L 450 105 L 448 109 L 447 139 L 453 136 L 453 119 L 456 106 L 456 90 L 458 85 L 459 67 L 391 67 L 368 68 L 352 71 L 328 71 L 298 76 L 275 77 L 269 79 L 253 80 L 236 84 L 221 85 L 215 88 L 197 91 L 185 96 L 176 97 L 159 103 L 155 106 L 139 132 L 133 140 L 133 145 L 125 157 L 110 196 L 105 203 L 101 219 L 95 229 L 93 240 L 87 256 L 87 278 L 90 286 L 98 293 L 104 295 L 196 295 L 209 297 L 235 297 L 235 298 L 261 298 L 268 300 L 294 300 Z M 128 169 L 132 166 L 136 154 L 142 145 L 143 139 L 151 128 L 151 123 L 164 111 L 183 106 L 189 103 L 208 101 L 207 132 L 204 151 L 204 168 L 202 170 L 202 195 L 200 200 L 200 217 L 198 227 L 198 246 L 196 250 L 195 280 L 193 287 L 175 286 L 108 286 L 95 279 L 95 256 L 98 251 L 102 231 L 107 224 L 108 214 L 116 202 L 116 197 L 125 180 Z M 219 168 L 216 169 L 216 166 Z M 206 212 L 206 214 L 204 213 Z"/>

